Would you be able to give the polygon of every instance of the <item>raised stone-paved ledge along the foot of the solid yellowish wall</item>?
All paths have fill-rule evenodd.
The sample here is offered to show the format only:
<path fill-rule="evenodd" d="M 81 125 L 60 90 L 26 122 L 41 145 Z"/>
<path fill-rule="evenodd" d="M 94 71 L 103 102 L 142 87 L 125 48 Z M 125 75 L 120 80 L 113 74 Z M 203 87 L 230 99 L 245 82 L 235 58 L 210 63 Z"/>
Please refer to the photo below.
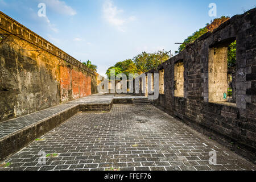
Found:
<path fill-rule="evenodd" d="M 0 161 L 20 150 L 34 139 L 46 134 L 79 111 L 110 111 L 113 103 L 131 103 L 137 96 L 94 94 L 10 119 L 0 123 Z"/>

